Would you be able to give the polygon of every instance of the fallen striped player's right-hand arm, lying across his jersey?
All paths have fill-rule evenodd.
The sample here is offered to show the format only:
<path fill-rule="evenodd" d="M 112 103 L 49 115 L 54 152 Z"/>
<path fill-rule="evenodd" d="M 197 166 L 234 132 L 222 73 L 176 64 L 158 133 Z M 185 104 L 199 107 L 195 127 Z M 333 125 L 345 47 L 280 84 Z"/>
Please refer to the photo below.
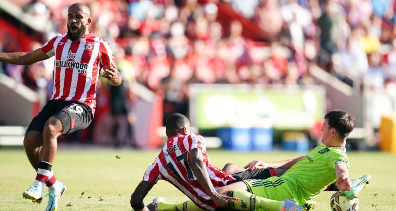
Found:
<path fill-rule="evenodd" d="M 227 207 L 229 202 L 238 200 L 238 198 L 217 193 L 210 180 L 209 174 L 207 173 L 206 165 L 203 163 L 202 151 L 198 148 L 190 151 L 190 167 L 199 184 L 202 185 L 203 189 L 208 193 L 216 205 Z"/>

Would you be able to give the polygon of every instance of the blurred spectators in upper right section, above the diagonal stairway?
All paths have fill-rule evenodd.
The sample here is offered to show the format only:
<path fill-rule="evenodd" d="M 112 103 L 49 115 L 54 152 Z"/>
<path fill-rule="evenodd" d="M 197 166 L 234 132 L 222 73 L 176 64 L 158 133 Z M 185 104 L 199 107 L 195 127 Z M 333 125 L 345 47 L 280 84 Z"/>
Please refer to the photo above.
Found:
<path fill-rule="evenodd" d="M 395 95 L 394 0 L 228 0 L 263 31 L 279 37 L 345 83 Z M 297 63 L 298 64 L 298 63 Z"/>

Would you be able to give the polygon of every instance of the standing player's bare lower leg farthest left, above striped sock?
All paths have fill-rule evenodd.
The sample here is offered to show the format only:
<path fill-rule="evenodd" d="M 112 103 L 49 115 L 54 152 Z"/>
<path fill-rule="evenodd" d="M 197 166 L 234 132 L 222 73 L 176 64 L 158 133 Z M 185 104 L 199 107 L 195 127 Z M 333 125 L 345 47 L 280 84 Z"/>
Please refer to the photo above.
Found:
<path fill-rule="evenodd" d="M 43 134 L 38 131 L 26 132 L 23 146 L 30 164 L 37 170 L 39 168 L 40 150 L 43 146 Z"/>

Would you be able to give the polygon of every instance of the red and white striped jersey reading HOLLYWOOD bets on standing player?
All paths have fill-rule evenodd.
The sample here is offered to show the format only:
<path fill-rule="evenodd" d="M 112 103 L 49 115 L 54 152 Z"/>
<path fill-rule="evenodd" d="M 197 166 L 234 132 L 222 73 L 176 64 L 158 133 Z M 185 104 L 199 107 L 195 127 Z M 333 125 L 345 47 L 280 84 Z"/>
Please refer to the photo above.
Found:
<path fill-rule="evenodd" d="M 109 44 L 92 33 L 74 42 L 62 34 L 46 42 L 41 50 L 55 56 L 51 99 L 82 102 L 94 113 L 101 67 L 113 62 Z"/>

